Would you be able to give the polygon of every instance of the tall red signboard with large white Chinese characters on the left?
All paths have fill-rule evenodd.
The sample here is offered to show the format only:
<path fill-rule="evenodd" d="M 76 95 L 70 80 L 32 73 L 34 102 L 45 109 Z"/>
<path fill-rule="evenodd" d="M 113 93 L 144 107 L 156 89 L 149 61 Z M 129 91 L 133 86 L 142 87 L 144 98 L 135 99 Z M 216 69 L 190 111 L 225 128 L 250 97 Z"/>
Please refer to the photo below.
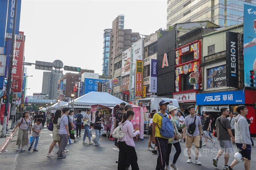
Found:
<path fill-rule="evenodd" d="M 23 79 L 23 56 L 24 56 L 24 46 L 25 42 L 22 41 L 23 32 L 20 32 L 20 39 L 16 40 L 15 51 L 12 63 L 12 91 L 21 92 L 22 88 L 22 79 Z"/>

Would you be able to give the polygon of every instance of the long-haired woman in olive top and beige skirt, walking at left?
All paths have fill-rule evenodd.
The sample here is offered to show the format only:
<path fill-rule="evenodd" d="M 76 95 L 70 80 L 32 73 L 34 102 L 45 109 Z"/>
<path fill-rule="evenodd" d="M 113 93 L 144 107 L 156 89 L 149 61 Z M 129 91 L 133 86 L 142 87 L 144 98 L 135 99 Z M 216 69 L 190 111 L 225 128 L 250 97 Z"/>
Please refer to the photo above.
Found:
<path fill-rule="evenodd" d="M 54 119 L 52 121 L 53 123 L 53 130 L 52 130 L 52 144 L 50 145 L 49 152 L 47 153 L 47 157 L 54 156 L 51 152 L 54 148 L 54 145 L 58 142 L 58 145 L 60 147 L 60 135 L 59 135 L 59 129 L 57 129 L 57 124 L 60 123 L 60 117 L 61 117 L 61 110 L 56 110 Z"/>

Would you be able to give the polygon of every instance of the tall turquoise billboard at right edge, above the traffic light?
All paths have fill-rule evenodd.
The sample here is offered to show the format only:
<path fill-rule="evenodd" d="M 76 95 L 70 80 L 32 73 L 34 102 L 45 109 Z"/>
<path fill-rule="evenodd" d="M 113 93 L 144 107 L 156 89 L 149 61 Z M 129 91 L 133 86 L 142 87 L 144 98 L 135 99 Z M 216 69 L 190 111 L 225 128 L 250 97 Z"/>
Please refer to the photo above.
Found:
<path fill-rule="evenodd" d="M 250 70 L 256 70 L 256 7 L 244 5 L 244 86 L 250 87 Z"/>

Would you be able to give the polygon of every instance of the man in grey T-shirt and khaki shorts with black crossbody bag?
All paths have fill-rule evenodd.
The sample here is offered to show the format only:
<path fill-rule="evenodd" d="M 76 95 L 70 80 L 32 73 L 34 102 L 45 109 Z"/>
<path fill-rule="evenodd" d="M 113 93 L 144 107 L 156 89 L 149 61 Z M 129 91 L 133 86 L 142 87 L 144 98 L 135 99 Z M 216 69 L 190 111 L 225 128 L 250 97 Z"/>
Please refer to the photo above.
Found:
<path fill-rule="evenodd" d="M 186 140 L 186 147 L 188 148 L 187 163 L 191 163 L 191 147 L 192 143 L 194 142 L 195 164 L 201 165 L 202 163 L 198 160 L 200 140 L 202 140 L 201 120 L 200 117 L 196 115 L 196 110 L 194 106 L 189 106 L 188 111 L 190 114 L 187 117 L 185 117 L 184 123 L 186 127 L 183 129 L 183 132 L 185 132 L 186 130 L 186 136 L 185 133 L 183 133 L 183 140 Z M 195 129 L 192 127 L 194 127 Z"/>

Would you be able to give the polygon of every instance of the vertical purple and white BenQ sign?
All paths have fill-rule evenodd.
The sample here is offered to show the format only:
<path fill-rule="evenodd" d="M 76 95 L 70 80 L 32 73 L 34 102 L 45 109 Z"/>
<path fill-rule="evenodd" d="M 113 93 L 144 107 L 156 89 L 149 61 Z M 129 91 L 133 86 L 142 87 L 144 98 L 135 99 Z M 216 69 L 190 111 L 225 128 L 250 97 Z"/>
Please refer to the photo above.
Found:
<path fill-rule="evenodd" d="M 149 84 L 149 92 L 156 93 L 157 92 L 157 60 L 151 59 L 150 62 L 150 84 Z"/>

